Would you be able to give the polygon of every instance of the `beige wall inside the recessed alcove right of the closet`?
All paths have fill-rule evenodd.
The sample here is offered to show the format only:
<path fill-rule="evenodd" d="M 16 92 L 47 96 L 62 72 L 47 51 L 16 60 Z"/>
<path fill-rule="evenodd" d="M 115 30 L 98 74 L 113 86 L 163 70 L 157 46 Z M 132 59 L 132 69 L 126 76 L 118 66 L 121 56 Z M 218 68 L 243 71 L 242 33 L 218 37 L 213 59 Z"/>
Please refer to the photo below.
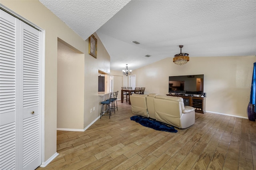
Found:
<path fill-rule="evenodd" d="M 84 128 L 84 54 L 58 41 L 57 128 Z"/>

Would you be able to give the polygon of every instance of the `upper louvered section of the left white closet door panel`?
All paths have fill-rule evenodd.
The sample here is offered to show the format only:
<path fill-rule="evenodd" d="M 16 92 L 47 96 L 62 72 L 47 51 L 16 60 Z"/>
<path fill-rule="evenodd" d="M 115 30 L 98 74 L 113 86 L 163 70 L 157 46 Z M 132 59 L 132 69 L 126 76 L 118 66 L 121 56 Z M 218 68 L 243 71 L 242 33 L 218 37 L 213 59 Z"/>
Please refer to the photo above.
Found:
<path fill-rule="evenodd" d="M 0 114 L 2 114 L 16 110 L 16 20 L 3 11 L 0 14 Z"/>

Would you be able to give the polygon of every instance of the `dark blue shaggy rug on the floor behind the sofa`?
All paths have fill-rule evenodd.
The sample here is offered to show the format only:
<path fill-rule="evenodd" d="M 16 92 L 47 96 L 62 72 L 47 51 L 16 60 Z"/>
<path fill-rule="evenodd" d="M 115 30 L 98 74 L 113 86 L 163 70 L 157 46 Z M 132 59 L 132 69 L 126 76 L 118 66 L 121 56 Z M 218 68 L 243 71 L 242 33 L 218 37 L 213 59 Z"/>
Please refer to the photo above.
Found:
<path fill-rule="evenodd" d="M 132 116 L 130 119 L 132 121 L 136 121 L 137 123 L 140 123 L 140 125 L 144 127 L 153 128 L 155 130 L 174 132 L 174 133 L 178 132 L 178 130 L 176 130 L 174 127 L 169 127 L 161 122 L 150 120 L 146 117 Z"/>

